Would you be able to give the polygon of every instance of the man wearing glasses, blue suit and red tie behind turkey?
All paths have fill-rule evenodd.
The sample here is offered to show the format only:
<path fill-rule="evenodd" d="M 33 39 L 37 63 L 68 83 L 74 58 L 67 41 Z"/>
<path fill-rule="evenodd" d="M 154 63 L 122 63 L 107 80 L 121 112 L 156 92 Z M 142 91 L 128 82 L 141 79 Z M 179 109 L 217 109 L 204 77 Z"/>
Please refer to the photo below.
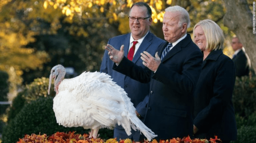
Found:
<path fill-rule="evenodd" d="M 152 23 L 152 11 L 147 3 L 138 2 L 134 3 L 129 13 L 129 27 L 130 33 L 119 35 L 109 39 L 108 44 L 114 47 L 124 45 L 124 56 L 135 63 L 138 66 L 145 67 L 142 64 L 141 53 L 147 51 L 151 55 L 156 53 L 157 47 L 165 42 L 164 40 L 156 37 L 152 34 L 149 29 Z M 120 74 L 117 71 L 112 70 L 114 62 L 108 57 L 108 51 L 105 50 L 102 64 L 100 66 L 100 72 L 105 72 L 113 78 L 119 86 L 124 88 L 131 102 L 136 107 L 140 115 L 139 118 L 143 119 L 146 108 L 139 104 L 149 94 L 150 85 L 149 83 L 140 83 L 139 81 L 133 80 L 130 77 Z M 138 105 L 139 104 L 139 105 Z M 114 128 L 114 138 L 119 139 L 132 139 L 139 141 L 140 133 L 138 131 L 132 131 L 132 135 L 128 136 L 124 131 L 123 127 L 116 126 Z"/>

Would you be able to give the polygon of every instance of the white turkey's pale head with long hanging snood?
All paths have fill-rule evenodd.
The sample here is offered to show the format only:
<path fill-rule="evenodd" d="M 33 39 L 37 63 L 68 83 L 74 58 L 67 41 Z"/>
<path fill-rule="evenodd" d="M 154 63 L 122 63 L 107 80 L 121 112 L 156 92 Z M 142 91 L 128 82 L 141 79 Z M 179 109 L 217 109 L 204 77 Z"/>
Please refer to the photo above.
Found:
<path fill-rule="evenodd" d="M 58 86 L 63 80 L 65 74 L 66 74 L 66 69 L 62 65 L 57 65 L 52 68 L 51 74 L 49 77 L 48 94 L 50 94 L 52 79 L 54 79 L 54 91 L 56 91 L 56 94 L 58 94 Z"/>

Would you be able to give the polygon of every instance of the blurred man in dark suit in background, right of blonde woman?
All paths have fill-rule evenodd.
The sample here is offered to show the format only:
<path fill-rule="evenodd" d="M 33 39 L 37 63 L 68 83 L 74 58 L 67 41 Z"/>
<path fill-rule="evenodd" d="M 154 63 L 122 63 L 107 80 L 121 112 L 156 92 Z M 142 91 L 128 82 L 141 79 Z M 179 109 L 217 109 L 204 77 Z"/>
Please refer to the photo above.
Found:
<path fill-rule="evenodd" d="M 251 61 L 243 48 L 243 44 L 240 43 L 237 37 L 234 37 L 232 38 L 231 46 L 235 52 L 232 60 L 235 63 L 236 76 L 249 76 Z"/>

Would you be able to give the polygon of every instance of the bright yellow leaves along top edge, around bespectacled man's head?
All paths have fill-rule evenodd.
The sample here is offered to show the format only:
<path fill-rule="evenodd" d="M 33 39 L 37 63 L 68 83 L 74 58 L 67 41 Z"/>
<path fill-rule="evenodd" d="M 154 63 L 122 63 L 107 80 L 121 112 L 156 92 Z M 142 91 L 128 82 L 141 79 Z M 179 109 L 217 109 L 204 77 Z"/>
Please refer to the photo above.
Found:
<path fill-rule="evenodd" d="M 70 19 L 72 19 L 76 14 L 81 16 L 83 12 L 94 13 L 99 10 L 101 13 L 111 13 L 108 18 L 109 22 L 112 23 L 114 21 L 122 22 L 120 19 L 123 17 L 118 17 L 118 13 L 122 12 L 122 10 L 125 10 L 127 12 L 125 14 L 128 16 L 130 7 L 133 3 L 138 1 L 147 2 L 148 0 L 45 0 L 43 7 L 45 9 L 48 9 L 48 6 L 53 6 L 54 9 L 59 7 L 62 10 L 62 13 L 68 16 Z M 162 22 L 163 10 L 166 8 L 165 5 L 171 3 L 172 0 L 167 0 L 166 2 L 165 0 L 150 0 L 149 5 L 153 11 L 152 18 L 154 23 L 157 23 L 158 21 Z M 110 7 L 106 6 L 108 4 Z"/>

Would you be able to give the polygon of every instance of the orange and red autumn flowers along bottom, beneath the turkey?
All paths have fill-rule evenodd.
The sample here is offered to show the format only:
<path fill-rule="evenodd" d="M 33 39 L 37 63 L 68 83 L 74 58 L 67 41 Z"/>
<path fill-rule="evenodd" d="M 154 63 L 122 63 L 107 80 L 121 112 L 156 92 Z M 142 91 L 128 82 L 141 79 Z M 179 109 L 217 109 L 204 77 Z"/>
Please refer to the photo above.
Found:
<path fill-rule="evenodd" d="M 156 139 L 149 142 L 148 140 L 144 140 L 140 143 L 216 143 L 216 141 L 220 141 L 220 139 L 215 137 L 215 139 L 190 139 L 190 137 L 184 137 L 183 139 L 180 138 L 173 138 L 170 140 L 160 140 L 157 142 Z M 221 142 L 221 141 L 220 141 Z M 75 132 L 57 132 L 52 134 L 51 136 L 47 136 L 46 134 L 43 135 L 25 135 L 24 138 L 19 139 L 17 143 L 137 143 L 130 139 L 120 140 L 119 142 L 116 139 L 108 139 L 106 141 L 97 138 L 89 138 L 88 134 L 75 134 Z M 138 142 L 139 143 L 139 142 Z"/>

